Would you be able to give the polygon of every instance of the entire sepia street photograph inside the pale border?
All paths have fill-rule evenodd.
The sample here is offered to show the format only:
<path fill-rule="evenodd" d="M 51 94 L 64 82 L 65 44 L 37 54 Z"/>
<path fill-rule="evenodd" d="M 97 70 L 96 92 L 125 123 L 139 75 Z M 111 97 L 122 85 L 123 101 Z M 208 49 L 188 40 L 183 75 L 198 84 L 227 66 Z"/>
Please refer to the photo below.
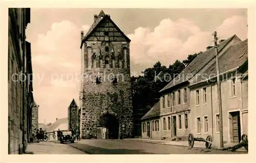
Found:
<path fill-rule="evenodd" d="M 248 98 L 246 8 L 8 8 L 9 155 L 248 154 Z"/>

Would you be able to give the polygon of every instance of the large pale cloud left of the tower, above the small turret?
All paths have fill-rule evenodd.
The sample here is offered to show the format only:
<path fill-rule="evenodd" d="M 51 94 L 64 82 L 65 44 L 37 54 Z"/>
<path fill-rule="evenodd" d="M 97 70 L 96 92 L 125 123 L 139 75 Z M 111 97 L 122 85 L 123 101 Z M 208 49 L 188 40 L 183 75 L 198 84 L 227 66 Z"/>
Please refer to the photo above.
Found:
<path fill-rule="evenodd" d="M 38 25 L 31 24 L 28 28 L 35 29 L 33 26 Z M 81 30 L 87 33 L 89 26 L 77 27 L 67 20 L 54 22 L 49 31 L 38 34 L 31 43 L 34 98 L 40 105 L 41 122 L 67 117 L 71 100 L 78 102 Z"/>

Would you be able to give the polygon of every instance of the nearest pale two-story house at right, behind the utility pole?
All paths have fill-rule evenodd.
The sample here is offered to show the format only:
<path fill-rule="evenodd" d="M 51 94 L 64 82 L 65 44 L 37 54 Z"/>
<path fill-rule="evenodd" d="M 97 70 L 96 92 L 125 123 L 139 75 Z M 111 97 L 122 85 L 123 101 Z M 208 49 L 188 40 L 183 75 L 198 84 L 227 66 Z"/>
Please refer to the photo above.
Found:
<path fill-rule="evenodd" d="M 247 60 L 247 39 L 233 44 L 219 57 L 224 143 L 238 143 L 241 135 L 247 133 L 248 75 L 243 76 L 238 71 Z M 195 137 L 211 135 L 218 144 L 220 112 L 216 83 L 215 59 L 207 69 L 190 80 L 190 123 Z"/>

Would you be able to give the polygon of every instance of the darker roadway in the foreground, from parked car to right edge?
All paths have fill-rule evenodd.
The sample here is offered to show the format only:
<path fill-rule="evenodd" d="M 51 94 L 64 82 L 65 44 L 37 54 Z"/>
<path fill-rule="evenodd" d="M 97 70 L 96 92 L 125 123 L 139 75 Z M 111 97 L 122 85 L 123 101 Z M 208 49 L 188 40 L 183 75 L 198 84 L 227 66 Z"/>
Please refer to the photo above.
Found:
<path fill-rule="evenodd" d="M 79 143 L 66 145 L 88 154 L 245 154 L 239 151 L 209 150 L 127 140 L 82 139 Z"/>

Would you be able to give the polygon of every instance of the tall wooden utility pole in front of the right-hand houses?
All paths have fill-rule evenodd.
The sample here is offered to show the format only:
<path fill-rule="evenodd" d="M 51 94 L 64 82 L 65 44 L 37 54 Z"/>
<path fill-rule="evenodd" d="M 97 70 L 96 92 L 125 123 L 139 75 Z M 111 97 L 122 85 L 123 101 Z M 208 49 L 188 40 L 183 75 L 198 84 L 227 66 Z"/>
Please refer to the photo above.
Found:
<path fill-rule="evenodd" d="M 220 147 L 223 148 L 223 121 L 222 121 L 222 101 L 221 101 L 221 82 L 220 82 L 220 69 L 219 69 L 219 54 L 218 54 L 218 37 L 217 32 L 215 31 L 214 36 L 214 44 L 216 50 L 216 70 L 217 70 L 217 88 L 218 88 L 218 100 L 219 100 L 219 118 L 220 118 Z"/>

